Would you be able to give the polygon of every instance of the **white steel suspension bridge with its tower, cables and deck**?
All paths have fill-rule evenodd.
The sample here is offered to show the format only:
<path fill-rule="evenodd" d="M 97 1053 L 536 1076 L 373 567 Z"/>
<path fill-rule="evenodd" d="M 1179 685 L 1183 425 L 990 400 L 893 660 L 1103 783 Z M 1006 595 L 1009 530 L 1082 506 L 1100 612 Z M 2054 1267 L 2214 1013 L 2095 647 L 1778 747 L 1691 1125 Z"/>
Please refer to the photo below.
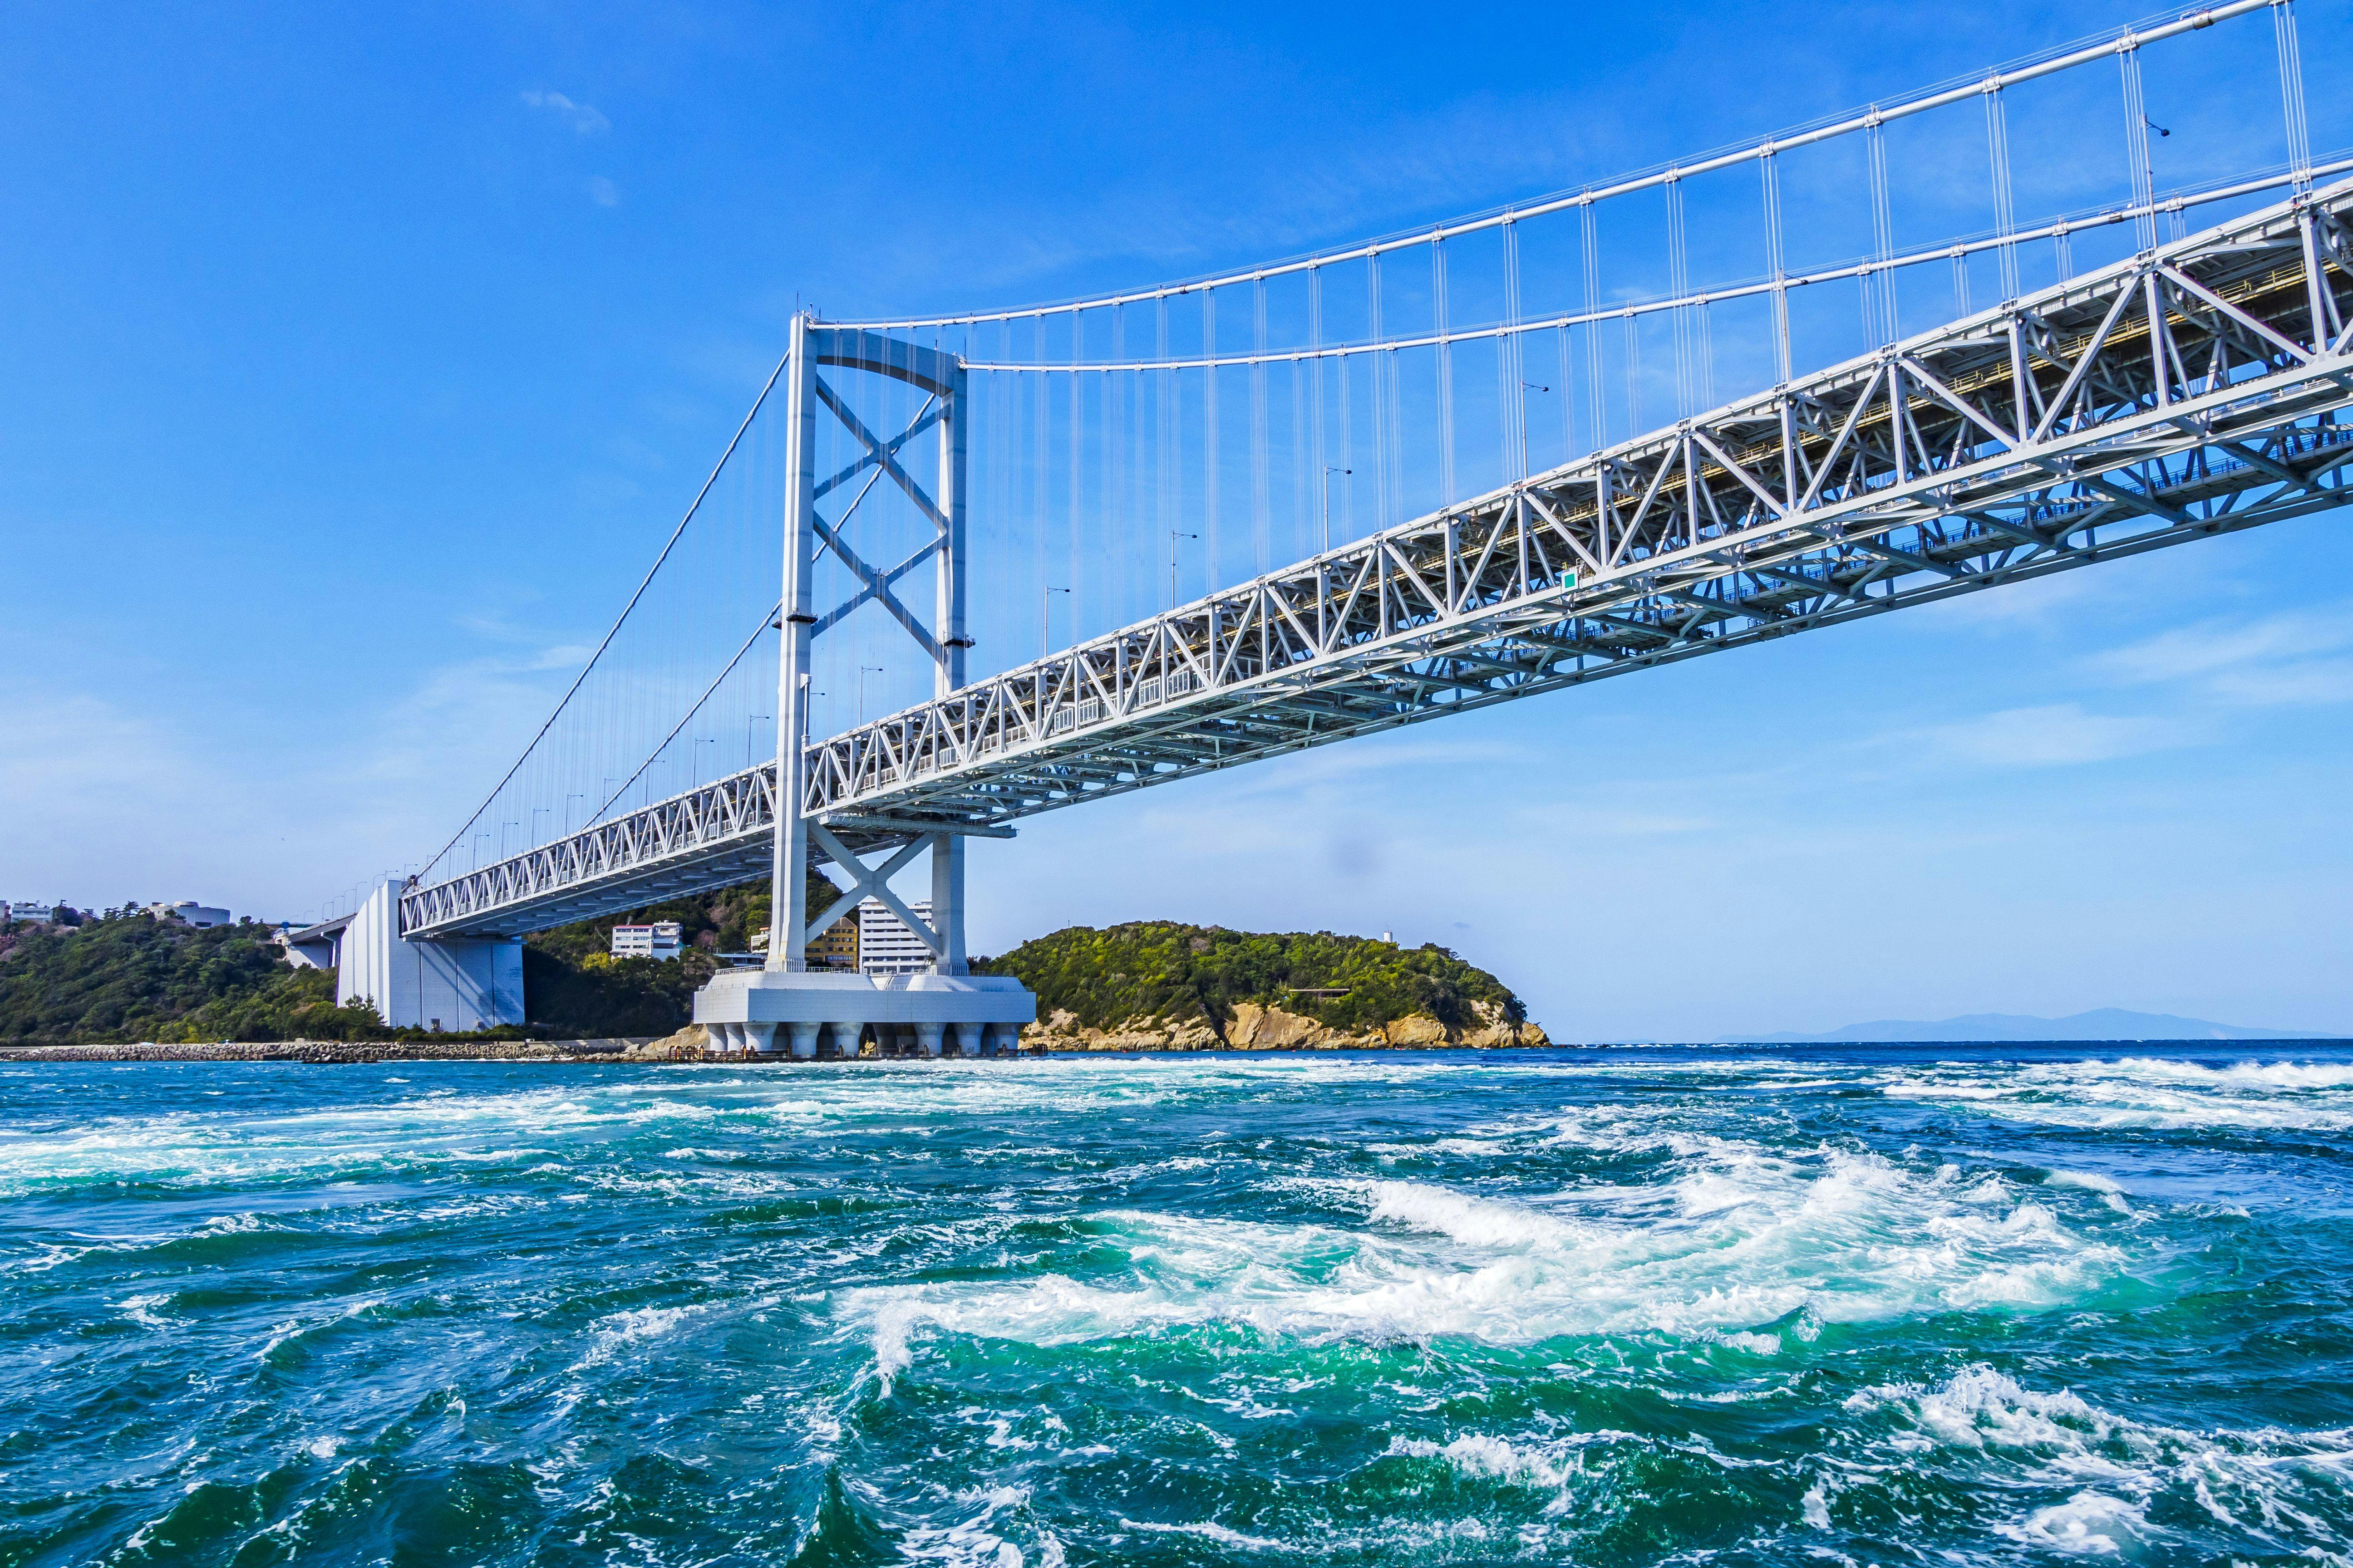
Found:
<path fill-rule="evenodd" d="M 2221 150 L 2238 167 L 2209 150 L 2205 179 L 2160 190 L 2144 59 L 2266 16 L 2268 71 L 2247 89 L 2264 113 L 2224 118 L 2273 129 Z M 2184 52 L 2181 78 L 2205 82 L 2214 59 Z M 2075 162 L 2087 115 L 2120 106 L 2106 205 L 2021 221 L 2012 103 L 2038 89 Z M 1948 167 L 1955 115 L 1981 125 L 1991 223 L 1899 242 L 1894 136 L 1920 127 L 1915 150 Z M 1339 252 L 1019 310 L 800 315 L 473 820 L 296 940 L 393 1023 L 480 1027 L 522 1018 L 522 933 L 767 879 L 765 969 L 696 1001 L 715 1039 L 1012 1048 L 1035 999 L 965 973 L 969 837 L 2339 505 L 2346 174 L 2353 158 L 2311 153 L 2294 9 L 2249 0 Z M 1694 242 L 1694 209 L 1722 235 L 1727 179 L 1753 193 L 1762 270 L 1694 280 L 1694 256 L 1739 266 Z M 1609 226 L 1645 244 L 1640 214 L 1609 219 L 1638 202 L 1664 219 L 1666 289 L 1602 244 Z M 1824 242 L 1798 252 L 1852 235 L 1864 254 L 1798 259 L 1817 219 Z M 1612 266 L 1628 282 L 1607 289 Z M 1972 289 L 1998 303 L 1972 310 Z M 1835 296 L 1854 313 L 1824 308 Z M 1753 390 L 1718 402 L 1727 376 Z M 1546 397 L 1558 461 L 1539 465 Z M 1287 567 L 1282 489 L 1289 541 L 1315 545 Z M 1179 599 L 1186 567 L 1202 592 Z M 1038 658 L 969 668 L 1028 630 Z M 892 698 L 875 717 L 868 675 Z M 744 764 L 720 766 L 736 738 Z M 929 917 L 892 886 L 918 856 Z M 805 867 L 842 889 L 814 917 Z M 932 973 L 807 966 L 864 898 L 906 922 Z"/>

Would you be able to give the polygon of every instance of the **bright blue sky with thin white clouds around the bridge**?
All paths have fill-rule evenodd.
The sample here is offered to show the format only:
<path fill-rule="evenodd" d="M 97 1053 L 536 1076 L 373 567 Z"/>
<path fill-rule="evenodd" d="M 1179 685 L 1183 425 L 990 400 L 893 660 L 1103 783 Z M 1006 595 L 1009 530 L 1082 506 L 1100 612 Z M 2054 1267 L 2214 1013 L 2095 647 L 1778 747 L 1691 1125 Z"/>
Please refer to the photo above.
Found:
<path fill-rule="evenodd" d="M 2299 9 L 2341 80 L 2344 5 Z M 0 893 L 299 917 L 431 853 L 795 301 L 1247 263 L 2137 14 L 21 12 Z M 2268 68 L 2247 38 L 2224 71 Z M 2315 143 L 2353 141 L 2329 113 Z M 2278 524 L 1040 818 L 974 849 L 974 945 L 1391 929 L 1569 1039 L 2089 1006 L 2353 1032 L 2348 557 L 2346 517 Z"/>

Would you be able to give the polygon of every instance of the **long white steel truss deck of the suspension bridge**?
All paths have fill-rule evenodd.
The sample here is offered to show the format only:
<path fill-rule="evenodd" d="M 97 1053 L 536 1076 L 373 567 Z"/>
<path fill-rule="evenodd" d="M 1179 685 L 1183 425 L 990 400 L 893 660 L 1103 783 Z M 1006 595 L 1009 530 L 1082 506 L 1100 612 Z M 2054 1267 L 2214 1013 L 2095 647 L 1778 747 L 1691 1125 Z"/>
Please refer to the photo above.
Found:
<path fill-rule="evenodd" d="M 800 816 L 842 823 L 859 853 L 1002 832 L 2341 505 L 2348 223 L 2353 181 L 958 686 L 805 748 Z M 711 790 L 760 797 L 769 780 L 753 769 Z M 701 795 L 640 816 L 682 816 Z M 405 926 L 541 929 L 628 907 L 600 889 L 635 875 L 729 879 L 718 842 L 642 842 L 645 860 L 558 844 L 414 891 Z"/>

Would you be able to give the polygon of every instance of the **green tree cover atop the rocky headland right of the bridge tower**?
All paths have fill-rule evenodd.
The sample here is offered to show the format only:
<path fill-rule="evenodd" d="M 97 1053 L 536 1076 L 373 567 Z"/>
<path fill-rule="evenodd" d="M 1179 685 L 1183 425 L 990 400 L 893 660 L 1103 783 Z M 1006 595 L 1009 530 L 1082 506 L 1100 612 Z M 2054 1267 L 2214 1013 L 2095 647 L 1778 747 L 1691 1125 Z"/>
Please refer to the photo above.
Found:
<path fill-rule="evenodd" d="M 1480 1001 L 1499 1006 L 1511 1023 L 1527 1020 L 1527 1009 L 1501 980 L 1445 947 L 1398 947 L 1329 931 L 1268 936 L 1172 922 L 1068 926 L 1005 957 L 979 959 L 974 969 L 1019 976 L 1038 992 L 1040 1018 L 1068 1011 L 1089 1030 L 1165 1018 L 1200 1020 L 1224 1034 L 1242 1001 L 1280 1006 L 1339 1032 L 1379 1030 L 1412 1013 L 1468 1030 L 1478 1025 L 1473 1004 Z"/>

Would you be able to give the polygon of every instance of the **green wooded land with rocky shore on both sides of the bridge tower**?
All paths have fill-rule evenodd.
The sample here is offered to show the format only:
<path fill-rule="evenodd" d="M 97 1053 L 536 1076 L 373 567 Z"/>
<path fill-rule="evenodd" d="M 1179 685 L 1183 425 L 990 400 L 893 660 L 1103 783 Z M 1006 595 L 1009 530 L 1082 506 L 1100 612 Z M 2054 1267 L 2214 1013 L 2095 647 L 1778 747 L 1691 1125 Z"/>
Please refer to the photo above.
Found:
<path fill-rule="evenodd" d="M 809 879 L 809 907 L 833 903 Z M 393 1030 L 365 1004 L 336 1006 L 334 973 L 294 969 L 271 926 L 191 929 L 139 910 L 82 924 L 0 926 L 0 1046 L 127 1041 L 466 1041 L 678 1039 L 694 992 L 767 926 L 765 884 L 720 889 L 525 938 L 529 1023 L 485 1034 Z M 612 926 L 675 919 L 678 959 L 616 959 Z M 1174 922 L 1071 926 L 979 973 L 1038 992 L 1040 1051 L 1202 1051 L 1362 1046 L 1541 1046 L 1544 1030 L 1492 973 L 1445 947 Z M 680 1034 L 685 1030 L 685 1034 Z"/>

